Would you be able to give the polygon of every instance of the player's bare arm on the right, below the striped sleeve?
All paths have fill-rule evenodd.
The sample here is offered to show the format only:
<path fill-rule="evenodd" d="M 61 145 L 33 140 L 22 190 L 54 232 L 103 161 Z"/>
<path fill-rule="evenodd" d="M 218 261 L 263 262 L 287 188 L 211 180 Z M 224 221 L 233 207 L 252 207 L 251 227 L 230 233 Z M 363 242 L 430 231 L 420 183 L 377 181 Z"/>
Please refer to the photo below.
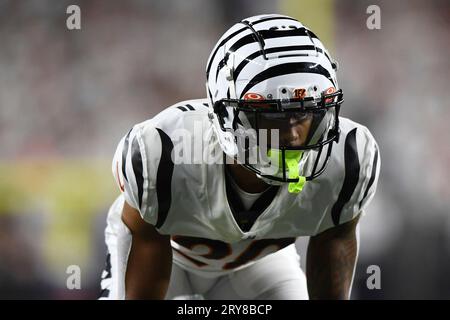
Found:
<path fill-rule="evenodd" d="M 310 238 L 306 276 L 310 299 L 349 299 L 358 253 L 359 216 Z"/>

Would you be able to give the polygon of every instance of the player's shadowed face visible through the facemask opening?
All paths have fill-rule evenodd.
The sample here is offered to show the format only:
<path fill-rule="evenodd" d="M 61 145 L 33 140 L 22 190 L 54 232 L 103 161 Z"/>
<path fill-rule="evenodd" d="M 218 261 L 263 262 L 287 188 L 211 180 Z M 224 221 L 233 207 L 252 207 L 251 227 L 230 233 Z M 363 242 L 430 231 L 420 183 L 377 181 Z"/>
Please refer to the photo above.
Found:
<path fill-rule="evenodd" d="M 299 112 L 265 114 L 260 117 L 262 129 L 279 130 L 279 145 L 285 147 L 301 147 L 305 145 L 311 128 L 312 115 Z"/>

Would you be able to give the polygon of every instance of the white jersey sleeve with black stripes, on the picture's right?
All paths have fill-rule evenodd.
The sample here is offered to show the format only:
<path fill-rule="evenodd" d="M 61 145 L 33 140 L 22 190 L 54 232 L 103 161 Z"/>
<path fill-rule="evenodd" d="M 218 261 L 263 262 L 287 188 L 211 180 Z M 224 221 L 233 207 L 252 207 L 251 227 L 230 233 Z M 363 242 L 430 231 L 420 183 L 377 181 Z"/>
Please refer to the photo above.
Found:
<path fill-rule="evenodd" d="M 336 197 L 318 233 L 364 215 L 377 189 L 380 153 L 366 127 L 358 126 L 346 135 L 342 159 L 343 177 L 336 179 Z"/>

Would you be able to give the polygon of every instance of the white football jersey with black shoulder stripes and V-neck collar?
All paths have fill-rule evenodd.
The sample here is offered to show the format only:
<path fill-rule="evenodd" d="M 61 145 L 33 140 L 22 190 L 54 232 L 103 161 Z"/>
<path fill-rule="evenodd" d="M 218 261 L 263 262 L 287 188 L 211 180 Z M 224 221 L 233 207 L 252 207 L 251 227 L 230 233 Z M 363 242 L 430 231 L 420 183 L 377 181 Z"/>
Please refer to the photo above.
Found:
<path fill-rule="evenodd" d="M 298 194 L 289 193 L 287 185 L 269 188 L 252 205 L 257 218 L 249 224 L 227 182 L 227 166 L 195 158 L 195 147 L 186 140 L 188 135 L 217 143 L 205 140 L 212 132 L 206 102 L 182 102 L 135 125 L 112 164 L 125 200 L 161 234 L 172 236 L 174 261 L 183 268 L 214 275 L 236 270 L 296 237 L 352 220 L 372 199 L 378 146 L 366 127 L 340 118 L 340 139 L 325 172 Z M 194 163 L 178 163 L 180 157 Z"/>

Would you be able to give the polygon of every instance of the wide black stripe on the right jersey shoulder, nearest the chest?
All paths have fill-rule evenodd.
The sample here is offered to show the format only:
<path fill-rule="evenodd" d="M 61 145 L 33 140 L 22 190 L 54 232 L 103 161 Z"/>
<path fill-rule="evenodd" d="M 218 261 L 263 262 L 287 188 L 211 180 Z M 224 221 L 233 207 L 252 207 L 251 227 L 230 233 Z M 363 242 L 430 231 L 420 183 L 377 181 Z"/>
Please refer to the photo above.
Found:
<path fill-rule="evenodd" d="M 331 217 L 334 225 L 339 224 L 342 209 L 350 200 L 359 180 L 359 158 L 358 147 L 356 145 L 356 128 L 350 131 L 345 138 L 344 146 L 345 159 L 345 178 L 342 189 L 333 208 L 331 209 Z"/>

